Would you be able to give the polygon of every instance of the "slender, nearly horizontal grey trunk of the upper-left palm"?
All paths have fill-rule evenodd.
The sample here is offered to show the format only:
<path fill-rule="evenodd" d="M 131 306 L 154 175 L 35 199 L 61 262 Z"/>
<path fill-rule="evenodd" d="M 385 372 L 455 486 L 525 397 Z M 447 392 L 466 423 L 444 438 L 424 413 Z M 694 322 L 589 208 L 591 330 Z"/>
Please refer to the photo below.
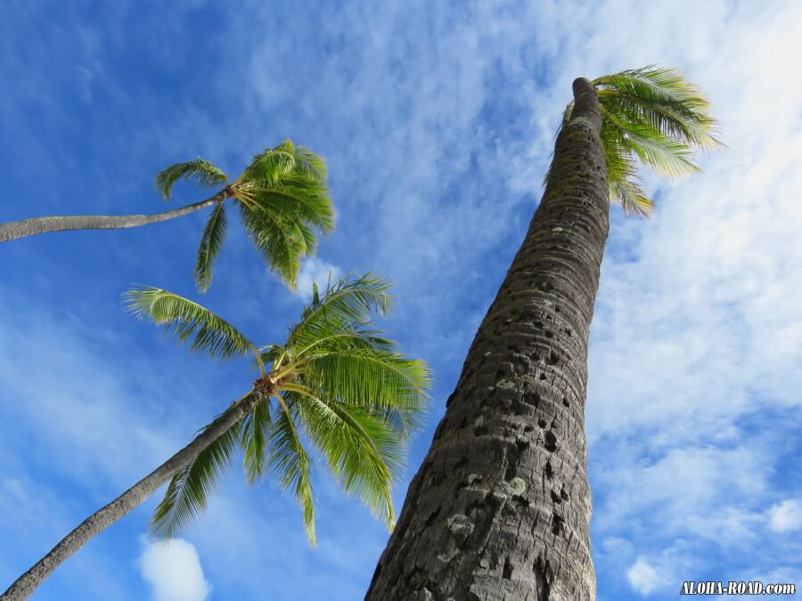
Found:
<path fill-rule="evenodd" d="M 156 215 L 73 215 L 73 216 L 54 216 L 54 217 L 33 217 L 21 221 L 10 221 L 0 223 L 0 242 L 17 240 L 36 236 L 40 233 L 51 233 L 53 231 L 71 230 L 123 230 L 129 227 L 139 227 L 150 223 L 159 223 L 182 217 L 202 208 L 211 207 L 218 202 L 225 200 L 225 191 L 217 192 L 212 197 L 201 202 L 187 205 L 186 207 L 174 208 L 164 213 Z"/>

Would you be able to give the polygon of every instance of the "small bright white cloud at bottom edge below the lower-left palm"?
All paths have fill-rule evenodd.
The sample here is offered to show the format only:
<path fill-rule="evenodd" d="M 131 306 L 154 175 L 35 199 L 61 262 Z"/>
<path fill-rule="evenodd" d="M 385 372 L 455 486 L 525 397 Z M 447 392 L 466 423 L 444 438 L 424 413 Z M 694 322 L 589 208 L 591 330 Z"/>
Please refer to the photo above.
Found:
<path fill-rule="evenodd" d="M 211 595 L 198 551 L 186 540 L 145 542 L 139 567 L 153 601 L 205 601 Z"/>

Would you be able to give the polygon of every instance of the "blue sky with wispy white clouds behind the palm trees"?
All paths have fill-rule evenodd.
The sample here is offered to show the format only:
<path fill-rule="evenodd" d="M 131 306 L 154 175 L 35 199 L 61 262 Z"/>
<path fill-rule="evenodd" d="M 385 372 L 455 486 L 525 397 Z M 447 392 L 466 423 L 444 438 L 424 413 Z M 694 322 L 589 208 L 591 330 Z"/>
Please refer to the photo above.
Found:
<path fill-rule="evenodd" d="M 161 168 L 237 172 L 291 137 L 330 167 L 338 228 L 304 267 L 381 273 L 382 326 L 437 385 L 420 463 L 540 196 L 574 77 L 661 63 L 699 83 L 728 150 L 613 209 L 587 409 L 599 598 L 685 580 L 802 586 L 802 5 L 724 2 L 12 2 L 0 21 L 0 221 L 151 213 Z M 701 5 L 700 5 L 701 4 Z M 202 198 L 176 190 L 175 203 Z M 203 217 L 0 246 L 0 581 L 12 581 L 247 389 L 127 316 L 132 283 L 198 297 Z M 203 302 L 259 342 L 302 296 L 232 227 Z M 318 470 L 318 538 L 233 469 L 183 540 L 155 499 L 36 599 L 361 598 L 387 538 Z"/>

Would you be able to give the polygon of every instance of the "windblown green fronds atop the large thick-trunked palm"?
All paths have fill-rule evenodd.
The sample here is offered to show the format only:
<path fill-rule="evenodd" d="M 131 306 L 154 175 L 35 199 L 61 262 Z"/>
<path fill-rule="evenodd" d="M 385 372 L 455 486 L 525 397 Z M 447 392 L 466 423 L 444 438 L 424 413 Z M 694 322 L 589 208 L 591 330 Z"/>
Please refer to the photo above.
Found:
<path fill-rule="evenodd" d="M 642 189 L 635 158 L 670 178 L 700 171 L 696 150 L 718 150 L 718 122 L 700 89 L 676 69 L 650 65 L 591 82 L 601 106 L 601 146 L 610 200 L 628 215 L 648 216 L 654 203 Z M 569 102 L 562 125 L 569 122 Z M 546 175 L 548 180 L 548 175 Z"/>

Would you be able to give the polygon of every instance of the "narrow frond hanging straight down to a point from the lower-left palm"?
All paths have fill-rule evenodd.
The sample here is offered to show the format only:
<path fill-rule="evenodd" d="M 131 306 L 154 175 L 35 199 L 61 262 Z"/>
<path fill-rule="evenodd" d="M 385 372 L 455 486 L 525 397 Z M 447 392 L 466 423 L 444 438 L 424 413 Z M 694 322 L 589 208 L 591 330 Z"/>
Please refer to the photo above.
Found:
<path fill-rule="evenodd" d="M 290 415 L 289 394 L 282 397 L 268 437 L 266 471 L 274 475 L 285 491 L 291 491 L 304 512 L 309 543 L 315 545 L 315 499 L 312 492 L 312 461 L 300 440 Z"/>

